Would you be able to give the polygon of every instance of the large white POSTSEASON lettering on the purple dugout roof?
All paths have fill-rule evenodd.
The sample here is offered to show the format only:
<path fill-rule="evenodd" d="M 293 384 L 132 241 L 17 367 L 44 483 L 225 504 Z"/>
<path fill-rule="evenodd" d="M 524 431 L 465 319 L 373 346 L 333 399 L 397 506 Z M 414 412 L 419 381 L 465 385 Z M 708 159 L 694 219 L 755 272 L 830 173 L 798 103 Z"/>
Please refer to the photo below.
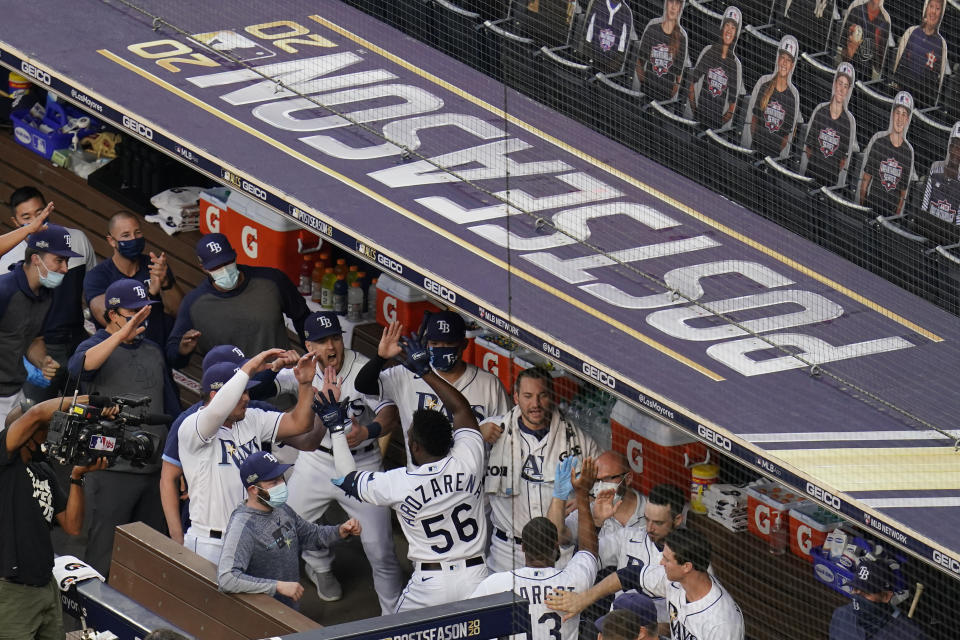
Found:
<path fill-rule="evenodd" d="M 322 18 L 314 18 L 323 24 Z M 254 27 L 248 32 L 259 33 Z M 881 330 L 858 324 L 860 314 L 855 312 L 859 309 L 845 309 L 837 299 L 845 303 L 846 299 L 833 291 L 822 287 L 822 293 L 809 290 L 806 287 L 816 286 L 809 278 L 804 277 L 805 283 L 795 282 L 793 277 L 799 272 L 788 276 L 771 268 L 770 264 L 780 268 L 775 261 L 763 264 L 743 259 L 763 256 L 743 245 L 723 246 L 722 234 L 704 229 L 693 218 L 682 222 L 672 212 L 661 210 L 666 207 L 629 176 L 598 168 L 579 157 L 575 149 L 548 144 L 523 126 L 510 127 L 508 132 L 498 124 L 499 116 L 492 117 L 488 110 L 451 98 L 439 85 L 358 49 L 356 43 L 332 30 L 325 35 L 328 38 L 322 46 L 329 52 L 326 55 L 310 56 L 306 53 L 310 49 L 301 49 L 304 57 L 300 59 L 256 70 L 195 75 L 187 81 L 201 90 L 204 100 L 221 108 L 226 103 L 225 110 L 231 115 L 255 119 L 261 128 L 271 127 L 271 136 L 331 163 L 338 171 L 358 176 L 370 189 L 415 214 L 445 227 L 453 223 L 457 225 L 455 235 L 466 234 L 479 241 L 481 248 L 494 245 L 495 253 L 508 247 L 518 255 L 514 264 L 542 269 L 548 281 L 565 282 L 569 285 L 566 290 L 592 300 L 600 310 L 606 306 L 630 310 L 636 314 L 635 321 L 628 323 L 631 326 L 645 323 L 672 338 L 703 344 L 707 356 L 742 375 L 805 366 L 789 355 L 766 357 L 770 343 L 751 337 L 747 330 L 817 364 L 914 346 L 900 335 L 878 335 L 892 332 L 893 327 Z M 349 120 L 323 113 L 312 100 L 264 80 L 264 75 L 335 108 Z M 214 97 L 202 91 L 206 89 L 221 93 Z M 456 106 L 448 106 L 445 99 Z M 390 142 L 371 143 L 370 136 L 358 138 L 351 121 L 365 123 L 384 138 L 414 151 L 429 139 L 430 157 L 404 162 L 408 152 Z M 442 131 L 438 133 L 439 128 Z M 509 175 L 510 190 L 498 195 L 509 197 L 513 207 L 489 204 L 489 197 L 474 193 L 438 166 L 481 186 L 500 184 Z M 515 215 L 517 208 L 549 219 L 557 231 L 534 236 L 511 231 L 506 219 Z M 594 230 L 590 223 L 610 216 L 630 219 L 625 224 L 637 231 L 603 238 L 607 254 L 597 255 L 581 243 L 598 242 L 591 238 Z M 670 239 L 655 241 L 649 235 L 663 230 L 670 230 Z M 618 242 L 636 246 L 617 247 Z M 621 263 L 638 265 L 663 280 L 669 290 L 656 291 L 645 278 L 627 281 L 618 274 Z M 718 296 L 717 287 L 709 284 L 715 277 L 736 280 L 737 295 L 724 297 L 731 295 L 724 291 Z M 683 296 L 671 295 L 672 290 L 732 316 L 740 326 L 705 324 L 704 317 L 709 314 Z M 800 331 L 812 326 L 836 337 L 826 340 Z M 855 341 L 845 343 L 851 335 L 856 336 Z"/>

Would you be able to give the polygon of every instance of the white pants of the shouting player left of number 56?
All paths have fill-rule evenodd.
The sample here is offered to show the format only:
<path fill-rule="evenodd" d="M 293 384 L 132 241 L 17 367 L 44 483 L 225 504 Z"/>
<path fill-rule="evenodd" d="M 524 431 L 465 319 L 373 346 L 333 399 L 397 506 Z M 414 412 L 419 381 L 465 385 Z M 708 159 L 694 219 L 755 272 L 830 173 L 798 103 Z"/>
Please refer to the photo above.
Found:
<path fill-rule="evenodd" d="M 374 442 L 376 446 L 376 442 Z M 357 469 L 380 470 L 380 451 L 355 455 Z M 397 598 L 403 588 L 403 573 L 393 545 L 393 523 L 388 507 L 357 502 L 348 497 L 339 487 L 330 482 L 337 477 L 333 456 L 322 451 L 300 452 L 297 465 L 287 486 L 290 491 L 288 504 L 308 522 L 318 520 L 330 503 L 337 501 L 347 516 L 360 521 L 360 542 L 373 570 L 373 586 L 380 599 L 383 615 L 390 615 L 397 606 Z M 325 573 L 333 564 L 329 549 L 304 551 L 303 561 L 314 571 Z"/>

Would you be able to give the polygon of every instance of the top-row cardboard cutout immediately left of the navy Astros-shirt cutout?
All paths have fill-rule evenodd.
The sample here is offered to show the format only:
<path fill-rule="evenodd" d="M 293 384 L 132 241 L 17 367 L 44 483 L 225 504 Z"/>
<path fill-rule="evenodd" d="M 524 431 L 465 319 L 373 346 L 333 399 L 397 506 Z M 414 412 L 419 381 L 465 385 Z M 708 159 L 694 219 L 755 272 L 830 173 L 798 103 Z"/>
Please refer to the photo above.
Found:
<path fill-rule="evenodd" d="M 883 0 L 854 0 L 843 14 L 839 62 L 849 62 L 863 81 L 876 80 L 890 40 L 890 14 Z"/>

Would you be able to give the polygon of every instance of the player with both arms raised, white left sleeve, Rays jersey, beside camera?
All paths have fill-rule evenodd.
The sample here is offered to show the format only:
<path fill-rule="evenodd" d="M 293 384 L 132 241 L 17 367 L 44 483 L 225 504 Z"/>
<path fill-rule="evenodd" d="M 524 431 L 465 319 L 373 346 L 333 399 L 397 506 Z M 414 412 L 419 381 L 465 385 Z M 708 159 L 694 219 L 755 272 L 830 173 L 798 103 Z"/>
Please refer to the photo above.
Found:
<path fill-rule="evenodd" d="M 313 354 L 294 369 L 298 386 L 296 406 L 287 413 L 248 409 L 250 377 L 283 355 L 283 349 L 262 351 L 242 367 L 215 364 L 203 374 L 204 406 L 180 425 L 179 453 L 183 475 L 190 486 L 190 528 L 184 546 L 217 564 L 234 507 L 246 493 L 237 469 L 264 440 L 304 433 L 313 425 Z"/>

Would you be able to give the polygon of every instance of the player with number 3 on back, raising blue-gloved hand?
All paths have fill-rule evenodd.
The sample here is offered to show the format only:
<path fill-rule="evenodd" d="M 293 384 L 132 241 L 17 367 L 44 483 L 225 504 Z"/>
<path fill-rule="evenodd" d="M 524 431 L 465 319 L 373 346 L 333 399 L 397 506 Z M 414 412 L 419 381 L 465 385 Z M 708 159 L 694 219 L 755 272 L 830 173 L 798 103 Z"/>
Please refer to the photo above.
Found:
<path fill-rule="evenodd" d="M 597 529 L 593 525 L 590 513 L 590 490 L 596 480 L 596 463 L 591 459 L 583 461 L 580 477 L 576 477 L 576 458 L 570 457 L 557 466 L 555 486 L 566 485 L 558 489 L 559 493 L 569 496 L 576 489 L 579 526 L 577 540 L 580 550 L 563 569 L 555 565 L 560 557 L 560 541 L 557 528 L 547 518 L 537 517 L 523 527 L 524 566 L 513 571 L 494 573 L 480 583 L 473 597 L 486 596 L 504 591 L 513 591 L 526 598 L 530 611 L 531 633 L 528 640 L 576 640 L 580 617 L 569 616 L 561 620 L 560 614 L 547 608 L 544 597 L 549 593 L 582 592 L 593 585 L 597 579 L 600 562 L 597 558 Z M 561 503 L 557 496 L 556 502 Z M 520 634 L 515 636 L 520 637 Z"/>

